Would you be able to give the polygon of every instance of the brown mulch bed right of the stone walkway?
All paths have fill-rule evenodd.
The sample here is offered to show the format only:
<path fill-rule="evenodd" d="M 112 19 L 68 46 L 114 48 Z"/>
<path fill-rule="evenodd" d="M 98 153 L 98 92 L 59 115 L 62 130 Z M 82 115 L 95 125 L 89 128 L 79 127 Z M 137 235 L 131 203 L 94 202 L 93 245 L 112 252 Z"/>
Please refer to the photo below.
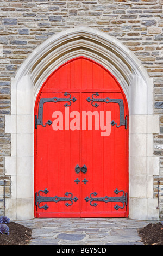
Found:
<path fill-rule="evenodd" d="M 150 223 L 139 229 L 139 236 L 144 245 L 163 245 L 163 223 Z"/>

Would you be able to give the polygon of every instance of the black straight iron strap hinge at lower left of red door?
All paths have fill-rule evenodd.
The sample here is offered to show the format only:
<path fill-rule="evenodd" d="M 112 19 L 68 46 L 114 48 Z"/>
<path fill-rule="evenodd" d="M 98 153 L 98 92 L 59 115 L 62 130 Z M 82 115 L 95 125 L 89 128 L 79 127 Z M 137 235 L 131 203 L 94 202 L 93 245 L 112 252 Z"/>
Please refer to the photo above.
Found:
<path fill-rule="evenodd" d="M 42 197 L 40 196 L 40 192 L 43 192 L 45 194 L 47 194 L 49 191 L 47 190 L 47 188 L 45 188 L 45 190 L 39 190 L 39 192 L 35 193 L 35 205 L 38 206 L 40 209 L 43 208 L 45 210 L 48 209 L 48 205 L 45 204 L 43 206 L 40 206 L 40 203 L 41 202 L 60 202 L 60 201 L 70 201 L 71 203 L 66 203 L 65 205 L 68 207 L 70 205 L 73 204 L 73 201 L 76 202 L 78 200 L 77 197 L 74 197 L 73 198 L 73 194 L 72 193 L 69 193 L 69 192 L 66 192 L 65 193 L 65 196 L 68 196 L 69 194 L 71 194 L 71 197 L 58 197 L 58 196 L 54 196 L 54 197 Z"/>

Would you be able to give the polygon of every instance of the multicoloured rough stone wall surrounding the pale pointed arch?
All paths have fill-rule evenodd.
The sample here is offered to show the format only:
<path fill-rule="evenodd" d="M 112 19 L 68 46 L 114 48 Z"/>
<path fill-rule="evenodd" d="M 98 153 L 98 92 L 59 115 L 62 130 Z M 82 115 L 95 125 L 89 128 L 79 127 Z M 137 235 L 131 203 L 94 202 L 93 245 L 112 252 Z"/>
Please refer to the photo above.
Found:
<path fill-rule="evenodd" d="M 10 156 L 11 136 L 5 134 L 5 115 L 10 114 L 11 78 L 37 45 L 74 26 L 99 29 L 126 45 L 153 77 L 153 113 L 160 117 L 160 133 L 153 136 L 153 154 L 160 157 L 159 176 L 153 178 L 163 218 L 163 13 L 162 0 L 3 0 L 0 2 L 0 214 L 10 197 L 10 177 L 4 157 Z"/>

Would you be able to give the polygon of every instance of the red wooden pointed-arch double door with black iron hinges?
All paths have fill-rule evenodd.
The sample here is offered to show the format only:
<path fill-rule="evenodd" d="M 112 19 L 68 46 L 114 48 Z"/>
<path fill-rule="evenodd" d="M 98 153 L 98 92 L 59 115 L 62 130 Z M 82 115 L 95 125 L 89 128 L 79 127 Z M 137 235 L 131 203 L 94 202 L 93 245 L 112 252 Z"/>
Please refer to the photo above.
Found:
<path fill-rule="evenodd" d="M 128 216 L 128 106 L 84 57 L 60 66 L 35 104 L 35 217 Z"/>

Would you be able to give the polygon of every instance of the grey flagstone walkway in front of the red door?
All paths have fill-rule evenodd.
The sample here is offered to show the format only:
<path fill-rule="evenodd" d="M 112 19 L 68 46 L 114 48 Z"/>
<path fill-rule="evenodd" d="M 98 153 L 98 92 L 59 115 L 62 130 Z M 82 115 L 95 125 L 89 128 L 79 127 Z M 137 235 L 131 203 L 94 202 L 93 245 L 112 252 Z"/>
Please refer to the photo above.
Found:
<path fill-rule="evenodd" d="M 32 228 L 30 245 L 143 245 L 137 228 L 156 221 L 127 218 L 48 218 L 15 221 Z"/>

